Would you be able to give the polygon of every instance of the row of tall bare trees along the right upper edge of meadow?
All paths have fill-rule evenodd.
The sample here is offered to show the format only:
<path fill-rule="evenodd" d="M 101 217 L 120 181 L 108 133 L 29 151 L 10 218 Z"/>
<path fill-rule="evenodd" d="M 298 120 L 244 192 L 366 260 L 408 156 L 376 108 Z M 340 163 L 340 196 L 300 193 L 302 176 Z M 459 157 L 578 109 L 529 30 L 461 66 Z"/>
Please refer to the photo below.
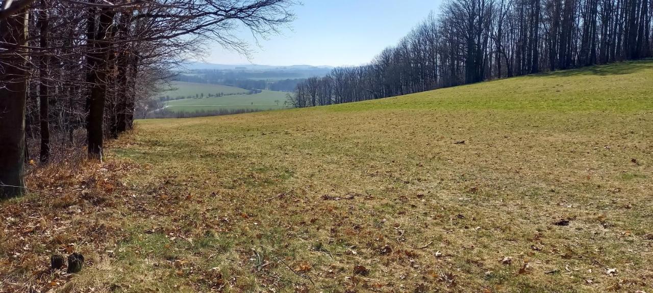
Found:
<path fill-rule="evenodd" d="M 295 107 L 398 96 L 652 55 L 651 0 L 449 0 L 364 66 L 299 83 Z"/>

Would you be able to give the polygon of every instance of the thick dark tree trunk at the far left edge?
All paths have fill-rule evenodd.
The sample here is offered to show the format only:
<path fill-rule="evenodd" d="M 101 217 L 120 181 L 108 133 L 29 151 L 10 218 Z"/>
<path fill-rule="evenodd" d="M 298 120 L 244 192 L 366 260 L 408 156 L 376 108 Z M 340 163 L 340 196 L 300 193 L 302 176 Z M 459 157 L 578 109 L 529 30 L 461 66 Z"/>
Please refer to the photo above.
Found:
<path fill-rule="evenodd" d="M 15 51 L 25 44 L 28 20 L 27 8 L 0 20 L 0 42 L 7 49 L 0 54 L 0 199 L 22 195 L 25 186 L 27 64 Z"/>

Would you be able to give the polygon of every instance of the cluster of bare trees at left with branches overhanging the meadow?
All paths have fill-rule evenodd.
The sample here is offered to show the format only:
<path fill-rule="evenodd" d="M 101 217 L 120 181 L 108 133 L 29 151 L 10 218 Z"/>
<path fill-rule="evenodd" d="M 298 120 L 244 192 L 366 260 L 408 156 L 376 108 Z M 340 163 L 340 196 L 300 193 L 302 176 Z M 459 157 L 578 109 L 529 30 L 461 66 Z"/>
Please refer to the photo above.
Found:
<path fill-rule="evenodd" d="M 85 136 L 88 157 L 133 124 L 168 70 L 230 31 L 276 33 L 294 0 L 0 0 L 0 199 L 21 195 L 25 163 Z M 30 148 L 29 146 L 33 146 Z M 34 156 L 30 150 L 38 150 Z"/>

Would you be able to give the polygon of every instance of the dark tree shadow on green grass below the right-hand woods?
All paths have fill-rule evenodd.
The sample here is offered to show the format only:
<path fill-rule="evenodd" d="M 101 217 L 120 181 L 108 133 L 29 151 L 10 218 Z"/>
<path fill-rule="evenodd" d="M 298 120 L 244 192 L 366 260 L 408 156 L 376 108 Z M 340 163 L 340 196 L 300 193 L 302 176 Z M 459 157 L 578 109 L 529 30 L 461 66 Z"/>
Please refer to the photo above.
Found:
<path fill-rule="evenodd" d="M 603 64 L 590 67 L 581 67 L 569 70 L 546 72 L 543 77 L 567 77 L 567 76 L 612 76 L 621 74 L 633 74 L 641 70 L 653 70 L 653 59 L 638 61 L 625 61 L 611 64 Z"/>

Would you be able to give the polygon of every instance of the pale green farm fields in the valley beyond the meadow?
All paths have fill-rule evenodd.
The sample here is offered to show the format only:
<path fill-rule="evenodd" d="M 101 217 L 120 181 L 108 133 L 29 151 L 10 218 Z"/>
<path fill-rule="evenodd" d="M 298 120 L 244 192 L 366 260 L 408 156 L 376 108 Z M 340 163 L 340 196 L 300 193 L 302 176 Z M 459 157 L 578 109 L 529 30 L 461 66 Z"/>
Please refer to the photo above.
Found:
<path fill-rule="evenodd" d="M 286 100 L 285 92 L 263 90 L 258 94 L 247 94 L 249 91 L 246 89 L 227 87 L 225 85 L 205 85 L 201 83 L 178 83 L 178 85 L 183 87 L 183 92 L 195 91 L 195 93 L 200 94 L 200 98 L 170 100 L 166 103 L 167 111 L 195 112 L 198 110 L 214 111 L 218 109 L 247 109 L 262 111 L 286 109 L 289 107 L 284 105 Z M 180 87 L 180 90 L 182 87 Z M 236 92 L 236 94 L 214 96 L 216 91 L 226 91 L 228 89 L 231 89 L 232 92 Z M 240 92 L 238 92 L 237 89 L 240 89 Z M 209 92 L 212 93 L 212 96 L 208 96 Z M 203 98 L 201 97 L 202 94 L 204 96 Z M 195 94 L 191 94 L 191 96 L 194 95 Z"/>

